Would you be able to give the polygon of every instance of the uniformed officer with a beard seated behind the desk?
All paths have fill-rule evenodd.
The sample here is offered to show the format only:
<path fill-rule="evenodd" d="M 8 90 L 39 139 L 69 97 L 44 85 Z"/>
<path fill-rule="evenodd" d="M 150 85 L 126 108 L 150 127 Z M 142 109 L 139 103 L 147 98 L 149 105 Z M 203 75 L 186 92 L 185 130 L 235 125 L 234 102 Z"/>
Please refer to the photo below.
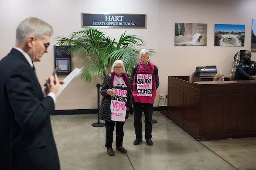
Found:
<path fill-rule="evenodd" d="M 251 52 L 244 51 L 244 61 L 240 60 L 236 63 L 235 80 L 256 79 L 256 62 L 251 61 Z"/>

